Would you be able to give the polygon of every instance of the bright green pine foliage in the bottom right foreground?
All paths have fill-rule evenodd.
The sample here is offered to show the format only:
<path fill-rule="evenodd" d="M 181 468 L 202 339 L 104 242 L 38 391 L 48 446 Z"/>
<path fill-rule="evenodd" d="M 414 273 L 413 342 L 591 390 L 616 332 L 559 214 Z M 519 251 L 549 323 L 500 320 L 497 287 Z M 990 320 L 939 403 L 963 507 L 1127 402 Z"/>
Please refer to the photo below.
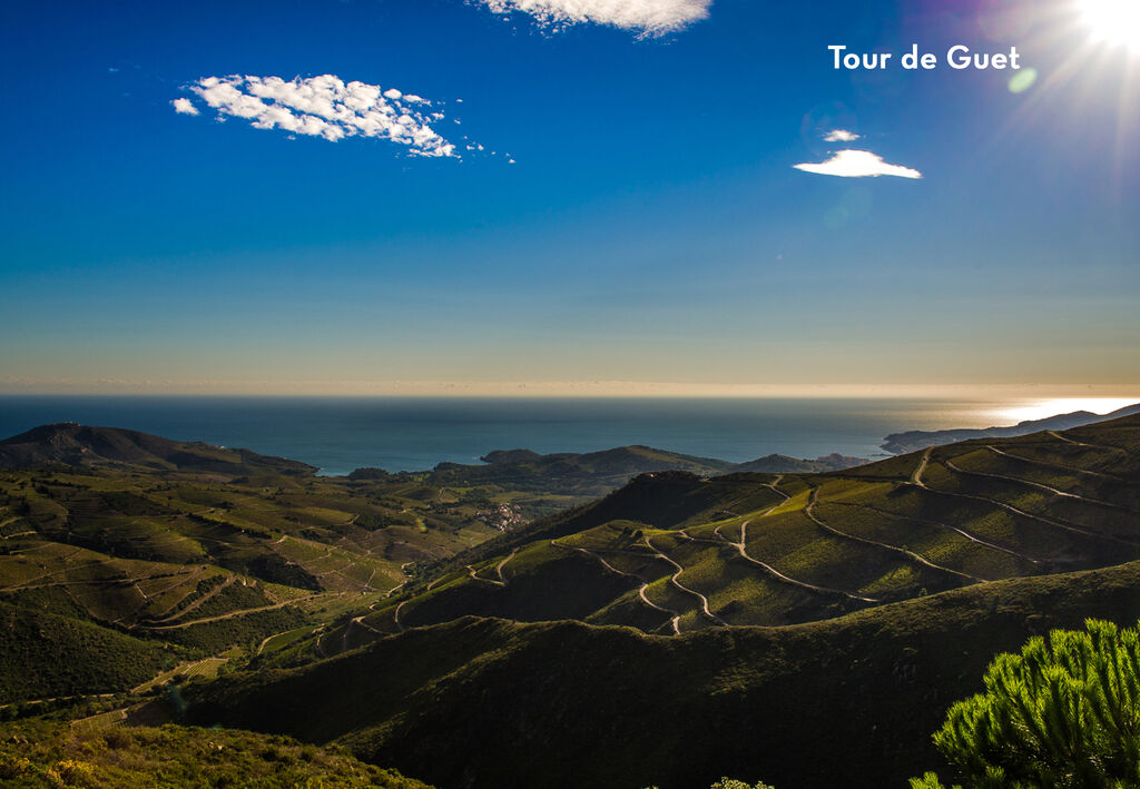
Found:
<path fill-rule="evenodd" d="M 1140 787 L 1140 635 L 1090 619 L 999 654 L 935 745 L 976 789 Z M 912 789 L 938 789 L 934 773 Z"/>

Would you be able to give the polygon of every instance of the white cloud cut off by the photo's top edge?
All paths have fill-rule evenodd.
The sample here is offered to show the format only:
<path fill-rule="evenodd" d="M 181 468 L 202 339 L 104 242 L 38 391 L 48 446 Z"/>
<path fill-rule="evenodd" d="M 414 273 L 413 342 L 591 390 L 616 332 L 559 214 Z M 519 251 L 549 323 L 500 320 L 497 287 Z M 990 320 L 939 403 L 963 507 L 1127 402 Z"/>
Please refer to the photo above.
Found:
<path fill-rule="evenodd" d="M 472 0 L 492 13 L 529 14 L 544 27 L 584 22 L 613 25 L 640 35 L 663 35 L 708 18 L 712 0 Z"/>

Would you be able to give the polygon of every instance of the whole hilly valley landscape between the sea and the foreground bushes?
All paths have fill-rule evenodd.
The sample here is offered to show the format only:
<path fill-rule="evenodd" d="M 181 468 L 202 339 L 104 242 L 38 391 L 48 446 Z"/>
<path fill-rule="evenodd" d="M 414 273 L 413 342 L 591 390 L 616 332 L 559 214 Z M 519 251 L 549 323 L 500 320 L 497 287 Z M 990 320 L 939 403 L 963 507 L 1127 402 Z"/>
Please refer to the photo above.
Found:
<path fill-rule="evenodd" d="M 439 787 L 811 789 L 828 741 L 870 789 L 937 758 L 995 651 L 1140 616 L 1140 416 L 771 473 L 319 477 L 52 428 L 0 442 L 7 718 L 221 724 Z"/>

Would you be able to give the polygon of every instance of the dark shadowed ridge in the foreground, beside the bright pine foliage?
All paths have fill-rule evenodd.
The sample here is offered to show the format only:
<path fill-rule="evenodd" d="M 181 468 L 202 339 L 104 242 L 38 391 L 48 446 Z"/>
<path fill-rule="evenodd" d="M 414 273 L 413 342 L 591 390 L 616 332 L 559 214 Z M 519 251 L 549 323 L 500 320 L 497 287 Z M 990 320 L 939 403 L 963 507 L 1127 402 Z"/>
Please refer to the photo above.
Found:
<path fill-rule="evenodd" d="M 682 637 L 466 618 L 196 690 L 192 713 L 339 740 L 440 786 L 662 789 L 722 774 L 881 789 L 993 654 L 1140 616 L 1140 563 L 976 585 L 824 623 Z"/>

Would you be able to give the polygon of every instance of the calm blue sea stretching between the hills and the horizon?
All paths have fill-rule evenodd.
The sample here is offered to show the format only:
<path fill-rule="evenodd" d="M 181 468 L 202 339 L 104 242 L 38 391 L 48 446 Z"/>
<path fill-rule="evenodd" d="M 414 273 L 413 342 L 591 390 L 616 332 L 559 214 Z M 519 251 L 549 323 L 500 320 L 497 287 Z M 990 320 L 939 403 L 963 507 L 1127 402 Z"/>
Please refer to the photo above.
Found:
<path fill-rule="evenodd" d="M 320 398 L 0 396 L 0 438 L 54 422 L 245 447 L 323 474 L 479 463 L 495 449 L 627 445 L 740 463 L 876 458 L 888 433 L 1008 424 L 1009 401 L 874 398 Z"/>

